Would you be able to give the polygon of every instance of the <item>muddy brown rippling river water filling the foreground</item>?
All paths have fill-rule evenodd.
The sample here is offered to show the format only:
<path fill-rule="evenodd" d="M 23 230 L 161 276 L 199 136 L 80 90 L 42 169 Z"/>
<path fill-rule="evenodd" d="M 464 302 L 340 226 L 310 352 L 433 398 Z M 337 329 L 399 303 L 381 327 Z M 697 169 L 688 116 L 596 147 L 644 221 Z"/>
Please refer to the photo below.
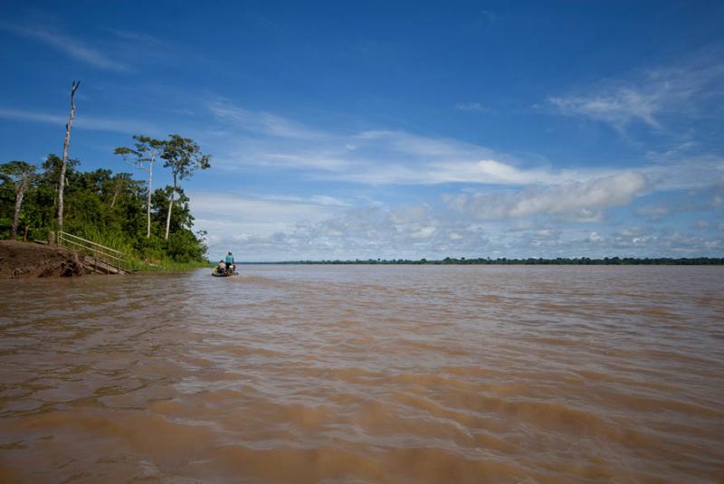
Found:
<path fill-rule="evenodd" d="M 716 482 L 724 269 L 0 281 L 0 481 Z"/>

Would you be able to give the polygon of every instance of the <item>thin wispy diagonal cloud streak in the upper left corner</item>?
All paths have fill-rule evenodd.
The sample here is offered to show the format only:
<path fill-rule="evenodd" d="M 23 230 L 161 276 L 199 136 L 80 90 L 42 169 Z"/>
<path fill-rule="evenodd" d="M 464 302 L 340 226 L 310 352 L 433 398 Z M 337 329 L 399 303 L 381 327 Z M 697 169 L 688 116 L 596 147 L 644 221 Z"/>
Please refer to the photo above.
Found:
<path fill-rule="evenodd" d="M 106 54 L 89 47 L 85 43 L 77 41 L 68 35 L 53 33 L 48 30 L 47 27 L 21 27 L 2 22 L 0 23 L 0 29 L 45 43 L 53 49 L 63 52 L 78 61 L 86 62 L 100 69 L 106 69 L 109 71 L 124 71 L 128 69 L 128 66 L 124 63 L 114 61 Z"/>

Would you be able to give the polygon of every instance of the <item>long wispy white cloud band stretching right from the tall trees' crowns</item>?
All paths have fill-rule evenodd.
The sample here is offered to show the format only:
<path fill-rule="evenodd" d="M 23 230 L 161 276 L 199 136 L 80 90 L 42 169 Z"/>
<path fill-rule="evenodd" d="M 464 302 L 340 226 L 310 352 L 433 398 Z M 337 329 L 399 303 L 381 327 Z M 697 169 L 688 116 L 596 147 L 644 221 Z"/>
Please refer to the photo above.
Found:
<path fill-rule="evenodd" d="M 209 139 L 216 167 L 225 170 L 294 170 L 305 180 L 364 185 L 561 185 L 620 175 L 620 169 L 555 169 L 450 138 L 395 130 L 332 134 L 269 113 L 225 102 L 210 109 L 224 128 Z M 262 135 L 262 136 L 260 136 Z M 720 157 L 650 152 L 632 166 L 653 190 L 724 183 Z M 582 162 L 585 160 L 582 160 Z"/>

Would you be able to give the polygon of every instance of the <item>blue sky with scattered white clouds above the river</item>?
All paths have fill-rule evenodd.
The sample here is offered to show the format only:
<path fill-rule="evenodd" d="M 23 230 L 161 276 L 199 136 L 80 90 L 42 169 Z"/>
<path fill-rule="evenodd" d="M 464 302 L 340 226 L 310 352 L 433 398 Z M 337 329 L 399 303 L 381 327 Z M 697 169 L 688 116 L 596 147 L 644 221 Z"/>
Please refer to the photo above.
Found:
<path fill-rule="evenodd" d="M 724 256 L 724 3 L 0 3 L 0 162 L 193 138 L 237 261 Z M 171 183 L 157 164 L 154 187 Z"/>

